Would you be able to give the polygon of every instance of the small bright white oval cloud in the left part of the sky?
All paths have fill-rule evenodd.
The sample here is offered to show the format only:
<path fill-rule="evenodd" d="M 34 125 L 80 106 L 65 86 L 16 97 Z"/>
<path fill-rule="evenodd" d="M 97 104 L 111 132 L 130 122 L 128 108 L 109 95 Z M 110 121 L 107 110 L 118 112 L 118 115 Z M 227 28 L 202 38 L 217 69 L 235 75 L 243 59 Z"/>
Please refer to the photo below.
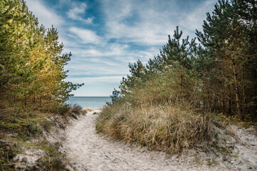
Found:
<path fill-rule="evenodd" d="M 98 44 L 101 42 L 101 38 L 95 32 L 88 29 L 71 27 L 69 31 L 77 36 L 82 43 Z"/>

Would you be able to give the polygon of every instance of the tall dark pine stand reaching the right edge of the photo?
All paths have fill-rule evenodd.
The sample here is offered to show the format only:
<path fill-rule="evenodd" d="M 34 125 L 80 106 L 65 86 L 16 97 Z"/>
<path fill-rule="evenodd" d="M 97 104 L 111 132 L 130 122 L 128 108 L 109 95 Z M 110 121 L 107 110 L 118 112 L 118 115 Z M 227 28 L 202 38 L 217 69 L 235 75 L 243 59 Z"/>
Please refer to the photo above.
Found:
<path fill-rule="evenodd" d="M 218 1 L 212 15 L 207 14 L 204 32 L 196 31 L 205 47 L 204 55 L 212 63 L 204 81 L 208 105 L 211 110 L 238 115 L 242 120 L 249 114 L 257 118 L 254 13 L 255 1 Z"/>

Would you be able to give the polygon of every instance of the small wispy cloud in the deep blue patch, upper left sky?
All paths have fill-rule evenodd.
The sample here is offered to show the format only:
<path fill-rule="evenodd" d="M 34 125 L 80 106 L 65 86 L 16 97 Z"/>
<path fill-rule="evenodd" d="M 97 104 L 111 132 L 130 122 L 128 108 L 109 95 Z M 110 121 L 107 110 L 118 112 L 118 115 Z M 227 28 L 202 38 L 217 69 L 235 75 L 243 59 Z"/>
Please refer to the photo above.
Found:
<path fill-rule="evenodd" d="M 67 13 L 68 18 L 83 21 L 85 24 L 92 24 L 93 18 L 83 19 L 83 15 L 85 15 L 85 10 L 87 9 L 87 5 L 85 3 L 76 4 L 73 9 L 70 9 Z"/>

